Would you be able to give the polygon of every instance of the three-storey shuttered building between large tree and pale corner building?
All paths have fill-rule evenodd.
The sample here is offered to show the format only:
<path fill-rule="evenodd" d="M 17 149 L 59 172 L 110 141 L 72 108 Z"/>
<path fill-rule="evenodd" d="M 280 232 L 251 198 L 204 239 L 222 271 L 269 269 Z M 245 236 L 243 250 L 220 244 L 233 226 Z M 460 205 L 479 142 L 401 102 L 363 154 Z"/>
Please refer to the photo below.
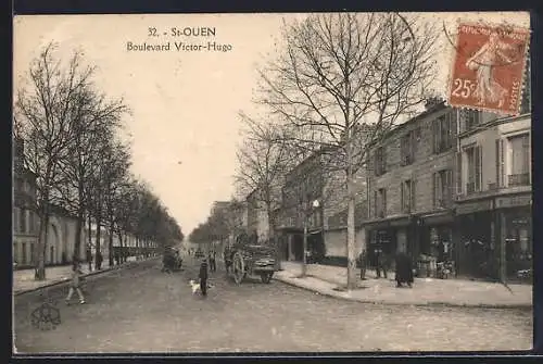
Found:
<path fill-rule="evenodd" d="M 370 255 L 376 248 L 414 256 L 450 252 L 458 115 L 437 100 L 426 106 L 371 152 L 364 224 Z"/>

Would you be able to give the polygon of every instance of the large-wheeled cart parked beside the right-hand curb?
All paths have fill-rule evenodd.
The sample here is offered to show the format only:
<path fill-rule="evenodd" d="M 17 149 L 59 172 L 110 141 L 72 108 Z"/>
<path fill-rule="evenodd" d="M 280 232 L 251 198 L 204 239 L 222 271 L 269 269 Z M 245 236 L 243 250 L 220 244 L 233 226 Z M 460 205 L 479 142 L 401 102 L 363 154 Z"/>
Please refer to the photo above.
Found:
<path fill-rule="evenodd" d="M 260 276 L 264 284 L 269 284 L 276 272 L 275 250 L 269 246 L 238 240 L 230 256 L 231 274 L 238 285 L 248 275 Z"/>

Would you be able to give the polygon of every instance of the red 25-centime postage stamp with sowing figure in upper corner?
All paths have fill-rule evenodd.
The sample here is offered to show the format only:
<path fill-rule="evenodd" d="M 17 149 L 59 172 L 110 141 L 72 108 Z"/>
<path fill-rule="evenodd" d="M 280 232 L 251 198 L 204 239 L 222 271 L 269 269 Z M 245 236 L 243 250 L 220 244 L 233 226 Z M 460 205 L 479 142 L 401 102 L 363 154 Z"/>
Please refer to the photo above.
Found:
<path fill-rule="evenodd" d="M 459 24 L 449 103 L 518 114 L 529 39 L 529 29 Z"/>

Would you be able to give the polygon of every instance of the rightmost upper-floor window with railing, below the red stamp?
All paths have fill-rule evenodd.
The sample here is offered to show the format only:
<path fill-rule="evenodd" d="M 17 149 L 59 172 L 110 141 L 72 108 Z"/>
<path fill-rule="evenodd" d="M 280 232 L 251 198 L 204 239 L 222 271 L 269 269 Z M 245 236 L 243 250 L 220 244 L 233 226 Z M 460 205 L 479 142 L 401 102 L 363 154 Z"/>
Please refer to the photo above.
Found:
<path fill-rule="evenodd" d="M 522 134 L 508 138 L 510 155 L 509 186 L 530 184 L 530 135 Z"/>

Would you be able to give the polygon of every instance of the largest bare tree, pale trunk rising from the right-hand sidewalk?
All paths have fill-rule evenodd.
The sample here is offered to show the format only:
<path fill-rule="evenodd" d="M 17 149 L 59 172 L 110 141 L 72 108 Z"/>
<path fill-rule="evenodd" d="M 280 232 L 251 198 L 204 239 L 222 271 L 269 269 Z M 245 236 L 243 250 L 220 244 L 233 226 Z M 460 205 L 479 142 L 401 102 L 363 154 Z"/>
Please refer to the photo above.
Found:
<path fill-rule="evenodd" d="M 313 14 L 285 25 L 285 52 L 261 71 L 257 102 L 283 121 L 283 142 L 332 152 L 348 194 L 348 289 L 355 274 L 353 176 L 370 147 L 426 97 L 437 32 L 397 13 Z"/>

